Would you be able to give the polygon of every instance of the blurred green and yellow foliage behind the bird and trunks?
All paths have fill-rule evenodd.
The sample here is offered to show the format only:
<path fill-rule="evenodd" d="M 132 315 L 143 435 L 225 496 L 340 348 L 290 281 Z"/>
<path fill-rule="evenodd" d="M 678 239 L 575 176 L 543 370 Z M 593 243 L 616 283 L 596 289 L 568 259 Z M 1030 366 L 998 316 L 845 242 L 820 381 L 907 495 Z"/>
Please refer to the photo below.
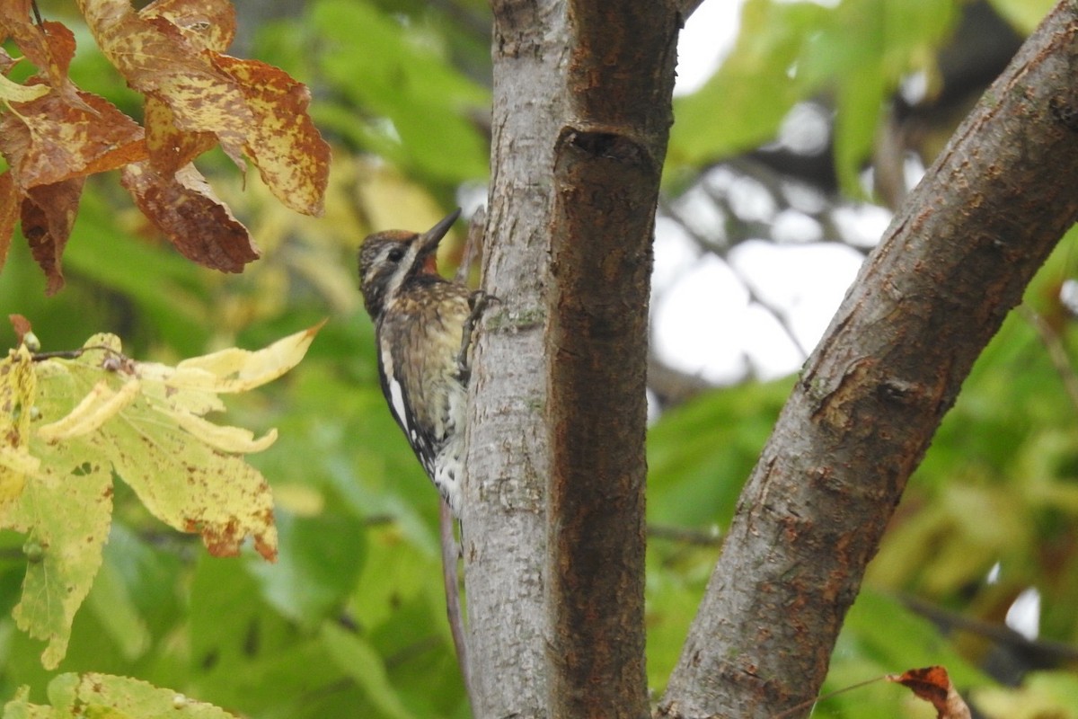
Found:
<path fill-rule="evenodd" d="M 777 220 L 791 211 L 816 222 L 815 244 L 865 252 L 838 212 L 899 202 L 1050 5 L 747 0 L 732 53 L 676 102 L 663 219 L 691 238 L 696 260 L 723 260 L 750 240 L 782 246 Z M 77 32 L 75 81 L 139 116 L 139 99 L 72 9 L 41 6 Z M 274 486 L 280 559 L 210 558 L 197 539 L 150 520 L 120 483 L 105 565 L 59 670 L 135 676 L 265 719 L 467 717 L 445 621 L 437 497 L 379 393 L 354 265 L 369 232 L 427 227 L 482 194 L 489 9 L 483 0 L 237 8 L 236 54 L 310 86 L 313 115 L 334 147 L 327 217 L 284 209 L 257 172 L 241 179 L 220 156 L 199 160 L 263 251 L 244 275 L 223 276 L 176 254 L 115 177 L 97 177 L 65 254 L 67 287 L 45 299 L 16 237 L 0 310 L 27 316 L 46 350 L 110 331 L 133 356 L 164 361 L 263 346 L 328 316 L 300 368 L 230 402 L 230 421 L 280 430 L 251 458 Z M 805 137 L 813 141 L 797 141 Z M 715 182 L 718 171 L 733 179 Z M 770 213 L 744 211 L 738 186 L 748 181 L 770 198 Z M 701 230 L 701 197 L 717 230 Z M 944 664 L 981 716 L 1078 717 L 1073 245 L 1064 240 L 985 351 L 911 482 L 827 690 Z M 749 302 L 788 319 L 762 298 Z M 693 321 L 707 333 L 723 308 L 699 309 Z M 0 329 L 0 345 L 13 343 Z M 657 693 L 792 382 L 761 382 L 747 363 L 744 376 L 717 387 L 674 364 L 657 352 L 651 373 L 648 672 Z M 0 696 L 29 685 L 43 702 L 42 647 L 10 618 L 22 543 L 0 535 Z M 821 702 L 814 716 L 932 710 L 876 682 Z"/>

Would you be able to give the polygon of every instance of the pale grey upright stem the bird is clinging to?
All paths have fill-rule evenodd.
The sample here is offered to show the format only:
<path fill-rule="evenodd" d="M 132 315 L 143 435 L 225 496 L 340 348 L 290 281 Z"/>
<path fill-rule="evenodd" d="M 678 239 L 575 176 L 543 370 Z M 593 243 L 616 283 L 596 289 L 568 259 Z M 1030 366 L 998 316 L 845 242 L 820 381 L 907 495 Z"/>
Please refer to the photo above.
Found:
<path fill-rule="evenodd" d="M 472 710 L 545 717 L 543 357 L 549 221 L 564 3 L 494 3 L 493 172 L 484 233 L 485 313 L 472 368 L 465 481 L 465 589 Z"/>

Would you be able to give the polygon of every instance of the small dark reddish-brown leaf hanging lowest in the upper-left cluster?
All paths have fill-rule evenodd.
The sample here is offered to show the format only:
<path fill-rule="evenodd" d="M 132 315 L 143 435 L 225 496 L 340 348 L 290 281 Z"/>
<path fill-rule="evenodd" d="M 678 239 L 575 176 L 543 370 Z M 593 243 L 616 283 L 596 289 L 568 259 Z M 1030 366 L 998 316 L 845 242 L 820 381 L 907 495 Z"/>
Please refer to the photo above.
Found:
<path fill-rule="evenodd" d="M 45 273 L 45 294 L 64 287 L 60 258 L 74 226 L 85 178 L 77 177 L 26 191 L 23 199 L 23 235 L 34 261 Z"/>

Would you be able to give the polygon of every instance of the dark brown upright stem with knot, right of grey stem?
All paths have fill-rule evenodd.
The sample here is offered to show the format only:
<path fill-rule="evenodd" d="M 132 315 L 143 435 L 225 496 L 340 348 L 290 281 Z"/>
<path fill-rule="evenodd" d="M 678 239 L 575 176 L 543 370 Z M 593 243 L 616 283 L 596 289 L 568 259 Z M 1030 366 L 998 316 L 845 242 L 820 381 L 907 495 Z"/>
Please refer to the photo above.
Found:
<path fill-rule="evenodd" d="M 644 489 L 648 298 L 678 18 L 568 4 L 547 324 L 552 717 L 648 717 Z"/>

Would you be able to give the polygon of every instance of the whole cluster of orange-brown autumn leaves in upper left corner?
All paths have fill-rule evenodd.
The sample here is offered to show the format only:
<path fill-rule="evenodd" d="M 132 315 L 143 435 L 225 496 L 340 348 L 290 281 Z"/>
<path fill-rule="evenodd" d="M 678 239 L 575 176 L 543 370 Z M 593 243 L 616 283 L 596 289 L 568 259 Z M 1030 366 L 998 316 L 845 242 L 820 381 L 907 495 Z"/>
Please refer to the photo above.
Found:
<path fill-rule="evenodd" d="M 85 177 L 123 168 L 142 212 L 189 259 L 241 272 L 259 257 L 247 230 L 191 162 L 220 143 L 246 171 L 245 155 L 287 206 L 320 215 L 329 147 L 307 114 L 306 86 L 284 71 L 221 53 L 235 36 L 227 0 L 78 0 L 105 56 L 146 96 L 140 126 L 68 79 L 74 36 L 34 24 L 30 0 L 0 0 L 0 40 L 11 39 L 38 74 L 8 80 L 17 61 L 0 50 L 0 267 L 16 217 L 46 292 L 64 285 L 61 258 Z"/>

